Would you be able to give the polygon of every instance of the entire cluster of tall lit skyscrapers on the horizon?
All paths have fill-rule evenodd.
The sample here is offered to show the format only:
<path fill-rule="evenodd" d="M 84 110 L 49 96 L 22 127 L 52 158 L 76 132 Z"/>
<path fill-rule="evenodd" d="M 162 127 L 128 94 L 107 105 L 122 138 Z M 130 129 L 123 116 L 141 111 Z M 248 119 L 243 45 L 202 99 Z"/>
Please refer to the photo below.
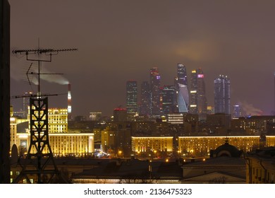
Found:
<path fill-rule="evenodd" d="M 126 83 L 126 109 L 128 113 L 159 117 L 171 113 L 190 113 L 207 117 L 207 98 L 202 69 L 193 69 L 188 82 L 186 66 L 177 64 L 173 85 L 161 86 L 159 69 L 149 70 L 149 81 L 142 81 L 138 103 L 137 81 Z M 214 112 L 230 114 L 230 80 L 220 75 L 214 80 Z"/>

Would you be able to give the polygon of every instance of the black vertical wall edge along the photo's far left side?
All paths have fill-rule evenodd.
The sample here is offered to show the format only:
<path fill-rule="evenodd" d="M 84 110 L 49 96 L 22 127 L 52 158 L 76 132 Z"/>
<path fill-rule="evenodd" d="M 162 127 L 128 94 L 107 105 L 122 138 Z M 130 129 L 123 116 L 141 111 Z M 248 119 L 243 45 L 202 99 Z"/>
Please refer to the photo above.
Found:
<path fill-rule="evenodd" d="M 0 0 L 0 184 L 10 183 L 10 5 Z"/>

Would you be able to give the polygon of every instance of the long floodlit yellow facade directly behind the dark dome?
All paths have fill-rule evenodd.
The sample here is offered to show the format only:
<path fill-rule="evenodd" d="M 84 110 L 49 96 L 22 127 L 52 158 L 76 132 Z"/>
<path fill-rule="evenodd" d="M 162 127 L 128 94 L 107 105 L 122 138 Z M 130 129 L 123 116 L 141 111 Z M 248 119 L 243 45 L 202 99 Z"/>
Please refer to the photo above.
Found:
<path fill-rule="evenodd" d="M 225 143 L 236 146 L 243 152 L 259 148 L 259 136 L 180 136 L 178 137 L 178 153 L 183 156 L 209 156 L 210 150 Z"/>

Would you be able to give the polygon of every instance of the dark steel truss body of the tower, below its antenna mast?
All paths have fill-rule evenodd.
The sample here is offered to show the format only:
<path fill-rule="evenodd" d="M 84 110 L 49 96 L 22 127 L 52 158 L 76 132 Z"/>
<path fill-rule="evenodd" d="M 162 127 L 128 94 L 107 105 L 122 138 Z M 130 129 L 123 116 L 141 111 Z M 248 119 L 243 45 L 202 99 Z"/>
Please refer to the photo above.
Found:
<path fill-rule="evenodd" d="M 48 98 L 30 98 L 30 146 L 23 170 L 14 183 L 23 179 L 30 183 L 30 174 L 37 175 L 37 183 L 49 183 L 54 175 L 59 175 L 49 145 L 48 122 Z"/>

